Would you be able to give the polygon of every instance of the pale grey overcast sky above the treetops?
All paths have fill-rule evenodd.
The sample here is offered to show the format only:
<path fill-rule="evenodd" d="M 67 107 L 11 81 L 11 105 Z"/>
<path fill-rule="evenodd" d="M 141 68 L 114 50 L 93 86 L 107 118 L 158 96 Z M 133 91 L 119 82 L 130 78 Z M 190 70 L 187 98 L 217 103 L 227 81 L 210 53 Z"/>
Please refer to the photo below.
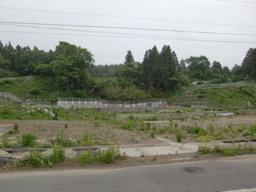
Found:
<path fill-rule="evenodd" d="M 123 63 L 128 50 L 142 62 L 169 45 L 179 61 L 204 55 L 231 69 L 256 47 L 255 10 L 255 0 L 0 0 L 0 40 L 45 51 L 67 41 L 95 65 Z"/>

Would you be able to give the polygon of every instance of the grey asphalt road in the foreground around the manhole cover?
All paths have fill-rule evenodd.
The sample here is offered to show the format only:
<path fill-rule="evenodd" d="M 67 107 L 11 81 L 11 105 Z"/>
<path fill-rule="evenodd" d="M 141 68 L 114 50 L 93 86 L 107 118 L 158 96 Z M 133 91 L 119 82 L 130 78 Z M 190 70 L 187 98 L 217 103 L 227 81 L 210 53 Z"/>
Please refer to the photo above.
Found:
<path fill-rule="evenodd" d="M 203 167 L 189 173 L 184 167 Z M 256 188 L 256 155 L 120 169 L 0 174 L 0 191 L 227 191 Z M 250 190 L 249 190 L 250 191 Z M 253 190 L 254 191 L 254 190 Z"/>

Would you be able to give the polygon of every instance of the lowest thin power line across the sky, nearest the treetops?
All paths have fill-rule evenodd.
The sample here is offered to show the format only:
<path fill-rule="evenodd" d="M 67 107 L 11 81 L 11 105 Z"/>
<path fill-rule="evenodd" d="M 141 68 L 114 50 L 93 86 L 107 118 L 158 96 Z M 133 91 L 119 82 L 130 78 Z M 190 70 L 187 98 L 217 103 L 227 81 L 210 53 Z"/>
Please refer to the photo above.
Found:
<path fill-rule="evenodd" d="M 87 35 L 87 34 L 65 34 L 65 33 L 42 33 L 42 32 L 23 32 L 23 31 L 3 31 L 12 33 L 31 33 L 31 34 L 52 34 L 52 35 L 75 35 L 75 36 L 98 36 L 98 37 L 119 37 L 119 38 L 140 38 L 140 39 L 160 39 L 160 40 L 183 40 L 183 41 L 202 41 L 202 42 L 230 42 L 230 43 L 243 43 L 255 44 L 255 41 L 229 41 L 229 40 L 208 40 L 208 39 L 189 39 L 189 38 L 163 38 L 163 37 L 136 37 L 136 36 L 113 36 L 113 35 Z"/>

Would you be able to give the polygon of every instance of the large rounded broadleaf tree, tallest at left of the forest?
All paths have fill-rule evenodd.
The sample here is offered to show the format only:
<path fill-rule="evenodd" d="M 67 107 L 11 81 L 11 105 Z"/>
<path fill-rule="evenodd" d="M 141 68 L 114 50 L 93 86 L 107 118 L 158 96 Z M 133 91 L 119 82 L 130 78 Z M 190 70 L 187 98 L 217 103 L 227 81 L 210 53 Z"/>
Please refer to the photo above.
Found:
<path fill-rule="evenodd" d="M 60 47 L 61 52 L 59 52 Z M 91 52 L 63 41 L 60 41 L 60 45 L 56 46 L 56 49 L 60 54 L 56 60 L 51 62 L 51 65 L 59 86 L 65 85 L 68 93 L 72 88 L 77 90 L 84 88 L 90 78 L 88 68 L 94 62 Z"/>

